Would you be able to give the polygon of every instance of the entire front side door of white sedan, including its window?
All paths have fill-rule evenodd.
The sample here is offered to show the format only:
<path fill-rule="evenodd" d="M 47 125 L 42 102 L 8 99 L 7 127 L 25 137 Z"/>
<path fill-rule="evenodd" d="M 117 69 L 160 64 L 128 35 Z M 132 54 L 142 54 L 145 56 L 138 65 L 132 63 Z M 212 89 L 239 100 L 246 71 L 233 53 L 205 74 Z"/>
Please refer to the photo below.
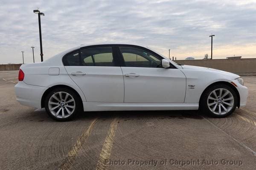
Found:
<path fill-rule="evenodd" d="M 163 68 L 163 57 L 145 48 L 120 45 L 125 82 L 124 102 L 183 103 L 186 77 L 171 65 Z"/>

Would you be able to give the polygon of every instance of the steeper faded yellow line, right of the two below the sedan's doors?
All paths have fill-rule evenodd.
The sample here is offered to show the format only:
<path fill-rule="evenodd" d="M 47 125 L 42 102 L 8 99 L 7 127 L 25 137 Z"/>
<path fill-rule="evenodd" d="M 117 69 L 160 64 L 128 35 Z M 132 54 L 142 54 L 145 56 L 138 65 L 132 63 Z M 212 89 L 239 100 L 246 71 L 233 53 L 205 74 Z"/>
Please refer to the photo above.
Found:
<path fill-rule="evenodd" d="M 96 170 L 106 170 L 107 164 L 106 161 L 109 160 L 111 155 L 111 150 L 114 142 L 114 137 L 116 134 L 116 128 L 117 128 L 117 119 L 114 119 L 111 122 L 110 128 L 108 130 L 108 134 L 106 136 L 105 142 L 102 147 L 102 151 L 99 155 L 99 159 L 96 165 Z"/>

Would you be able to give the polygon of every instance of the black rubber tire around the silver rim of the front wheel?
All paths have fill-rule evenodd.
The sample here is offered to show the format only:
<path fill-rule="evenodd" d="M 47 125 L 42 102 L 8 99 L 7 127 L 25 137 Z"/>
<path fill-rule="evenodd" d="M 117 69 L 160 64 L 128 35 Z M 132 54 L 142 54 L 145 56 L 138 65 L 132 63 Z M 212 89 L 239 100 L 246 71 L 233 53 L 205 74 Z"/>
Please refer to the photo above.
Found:
<path fill-rule="evenodd" d="M 233 107 L 230 106 L 230 111 L 228 111 L 227 113 L 224 113 L 224 114 L 216 114 L 216 113 L 213 113 L 209 107 L 208 107 L 208 104 L 207 104 L 207 99 L 208 99 L 208 96 L 213 92 L 215 91 L 216 89 L 219 89 L 219 88 L 223 88 L 225 90 L 228 90 L 230 91 L 230 93 L 233 95 Z M 218 94 L 217 94 L 218 96 Z M 216 100 L 217 101 L 217 100 Z M 215 102 L 215 101 L 214 101 Z M 218 104 L 218 101 L 216 102 Z M 212 85 L 210 86 L 209 88 L 207 88 L 204 93 L 202 94 L 201 96 L 201 100 L 200 100 L 200 103 L 199 103 L 199 108 L 200 108 L 200 111 L 203 112 L 203 113 L 207 113 L 208 115 L 212 116 L 212 117 L 215 117 L 215 118 L 222 118 L 222 117 L 226 117 L 226 116 L 229 116 L 231 113 L 233 113 L 233 111 L 235 111 L 236 107 L 237 107 L 237 103 L 238 103 L 238 96 L 236 94 L 236 91 L 234 91 L 234 89 L 232 87 L 230 87 L 229 85 L 227 84 L 223 84 L 223 83 L 220 83 L 220 84 L 215 84 L 215 85 Z M 215 104 L 214 104 L 215 105 Z M 220 104 L 219 104 L 220 105 Z M 227 106 L 227 105 L 226 105 Z M 214 106 L 213 106 L 214 107 Z M 221 107 L 221 106 L 220 106 Z M 221 107 L 222 108 L 222 107 Z M 217 109 L 219 110 L 219 109 Z"/>

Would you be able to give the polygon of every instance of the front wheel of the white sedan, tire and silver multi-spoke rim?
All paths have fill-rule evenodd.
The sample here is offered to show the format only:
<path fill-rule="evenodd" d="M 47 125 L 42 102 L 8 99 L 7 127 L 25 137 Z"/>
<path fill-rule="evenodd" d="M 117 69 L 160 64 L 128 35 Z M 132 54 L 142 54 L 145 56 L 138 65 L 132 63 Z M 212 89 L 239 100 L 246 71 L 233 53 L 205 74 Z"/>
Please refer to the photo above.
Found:
<path fill-rule="evenodd" d="M 219 84 L 208 88 L 201 99 L 203 111 L 214 117 L 225 117 L 237 106 L 237 94 L 229 85 Z"/>

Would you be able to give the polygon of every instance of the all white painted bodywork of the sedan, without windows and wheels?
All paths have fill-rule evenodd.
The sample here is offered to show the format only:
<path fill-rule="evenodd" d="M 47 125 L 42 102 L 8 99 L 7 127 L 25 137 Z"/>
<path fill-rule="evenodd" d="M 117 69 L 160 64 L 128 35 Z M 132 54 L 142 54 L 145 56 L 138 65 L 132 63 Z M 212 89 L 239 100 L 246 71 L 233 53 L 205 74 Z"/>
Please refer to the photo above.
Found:
<path fill-rule="evenodd" d="M 15 85 L 17 101 L 41 108 L 41 99 L 47 89 L 66 85 L 79 94 L 84 111 L 196 110 L 208 85 L 232 81 L 238 85 L 240 106 L 246 105 L 248 90 L 237 82 L 239 75 L 177 65 L 161 54 L 177 69 L 63 65 L 65 54 L 85 46 L 64 51 L 41 63 L 21 65 L 25 77 Z M 72 75 L 78 71 L 85 75 Z M 126 77 L 125 74 L 139 77 Z"/>

